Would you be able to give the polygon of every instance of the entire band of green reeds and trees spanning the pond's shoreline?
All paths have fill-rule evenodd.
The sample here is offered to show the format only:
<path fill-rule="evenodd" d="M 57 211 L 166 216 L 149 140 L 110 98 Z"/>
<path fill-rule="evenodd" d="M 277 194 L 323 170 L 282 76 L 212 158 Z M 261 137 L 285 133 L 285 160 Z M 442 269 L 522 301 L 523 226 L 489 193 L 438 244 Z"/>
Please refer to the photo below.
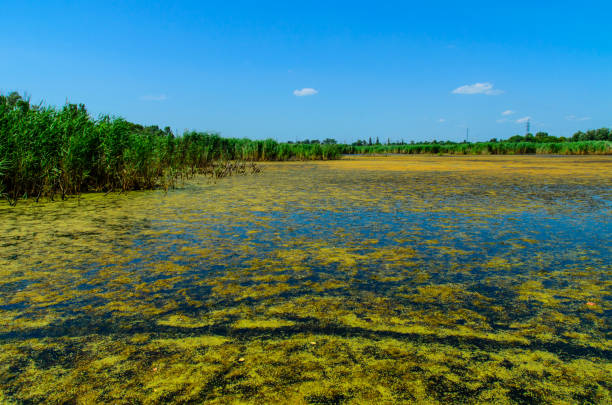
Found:
<path fill-rule="evenodd" d="M 174 187 L 195 174 L 224 177 L 257 172 L 254 162 L 332 160 L 345 154 L 612 154 L 607 128 L 557 138 L 539 132 L 489 142 L 391 143 L 277 142 L 222 138 L 208 132 L 175 135 L 169 127 L 142 126 L 103 115 L 83 104 L 61 109 L 33 105 L 16 92 L 0 94 L 0 195 L 66 198 L 83 192 Z M 248 162 L 248 163 L 247 163 Z"/>

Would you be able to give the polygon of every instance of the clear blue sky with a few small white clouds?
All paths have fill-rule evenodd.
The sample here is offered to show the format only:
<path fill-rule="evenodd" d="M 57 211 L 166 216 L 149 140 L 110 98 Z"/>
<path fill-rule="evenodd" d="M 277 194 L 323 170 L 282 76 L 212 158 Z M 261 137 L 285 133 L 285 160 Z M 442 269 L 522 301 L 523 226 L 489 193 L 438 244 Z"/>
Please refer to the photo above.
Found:
<path fill-rule="evenodd" d="M 495 3 L 4 0 L 0 91 L 258 139 L 612 126 L 611 3 Z"/>

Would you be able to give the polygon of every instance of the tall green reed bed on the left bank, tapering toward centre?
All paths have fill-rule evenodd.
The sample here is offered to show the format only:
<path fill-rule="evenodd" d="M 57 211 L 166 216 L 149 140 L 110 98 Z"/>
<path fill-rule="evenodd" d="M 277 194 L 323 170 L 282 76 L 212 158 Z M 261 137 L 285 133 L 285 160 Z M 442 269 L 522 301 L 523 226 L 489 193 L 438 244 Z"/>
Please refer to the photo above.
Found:
<path fill-rule="evenodd" d="M 0 193 L 20 198 L 64 197 L 85 191 L 172 186 L 194 173 L 227 174 L 228 161 L 333 159 L 335 145 L 289 145 L 186 132 L 175 136 L 121 118 L 92 118 L 84 105 L 32 105 L 0 95 Z"/>

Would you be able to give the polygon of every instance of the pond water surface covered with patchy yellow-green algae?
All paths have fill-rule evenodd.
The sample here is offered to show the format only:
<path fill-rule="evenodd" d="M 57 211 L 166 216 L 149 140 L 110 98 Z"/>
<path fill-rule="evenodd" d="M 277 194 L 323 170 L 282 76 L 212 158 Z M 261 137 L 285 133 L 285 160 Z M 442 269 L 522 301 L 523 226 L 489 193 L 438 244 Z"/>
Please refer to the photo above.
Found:
<path fill-rule="evenodd" d="M 0 403 L 612 403 L 612 157 L 0 205 Z"/>

